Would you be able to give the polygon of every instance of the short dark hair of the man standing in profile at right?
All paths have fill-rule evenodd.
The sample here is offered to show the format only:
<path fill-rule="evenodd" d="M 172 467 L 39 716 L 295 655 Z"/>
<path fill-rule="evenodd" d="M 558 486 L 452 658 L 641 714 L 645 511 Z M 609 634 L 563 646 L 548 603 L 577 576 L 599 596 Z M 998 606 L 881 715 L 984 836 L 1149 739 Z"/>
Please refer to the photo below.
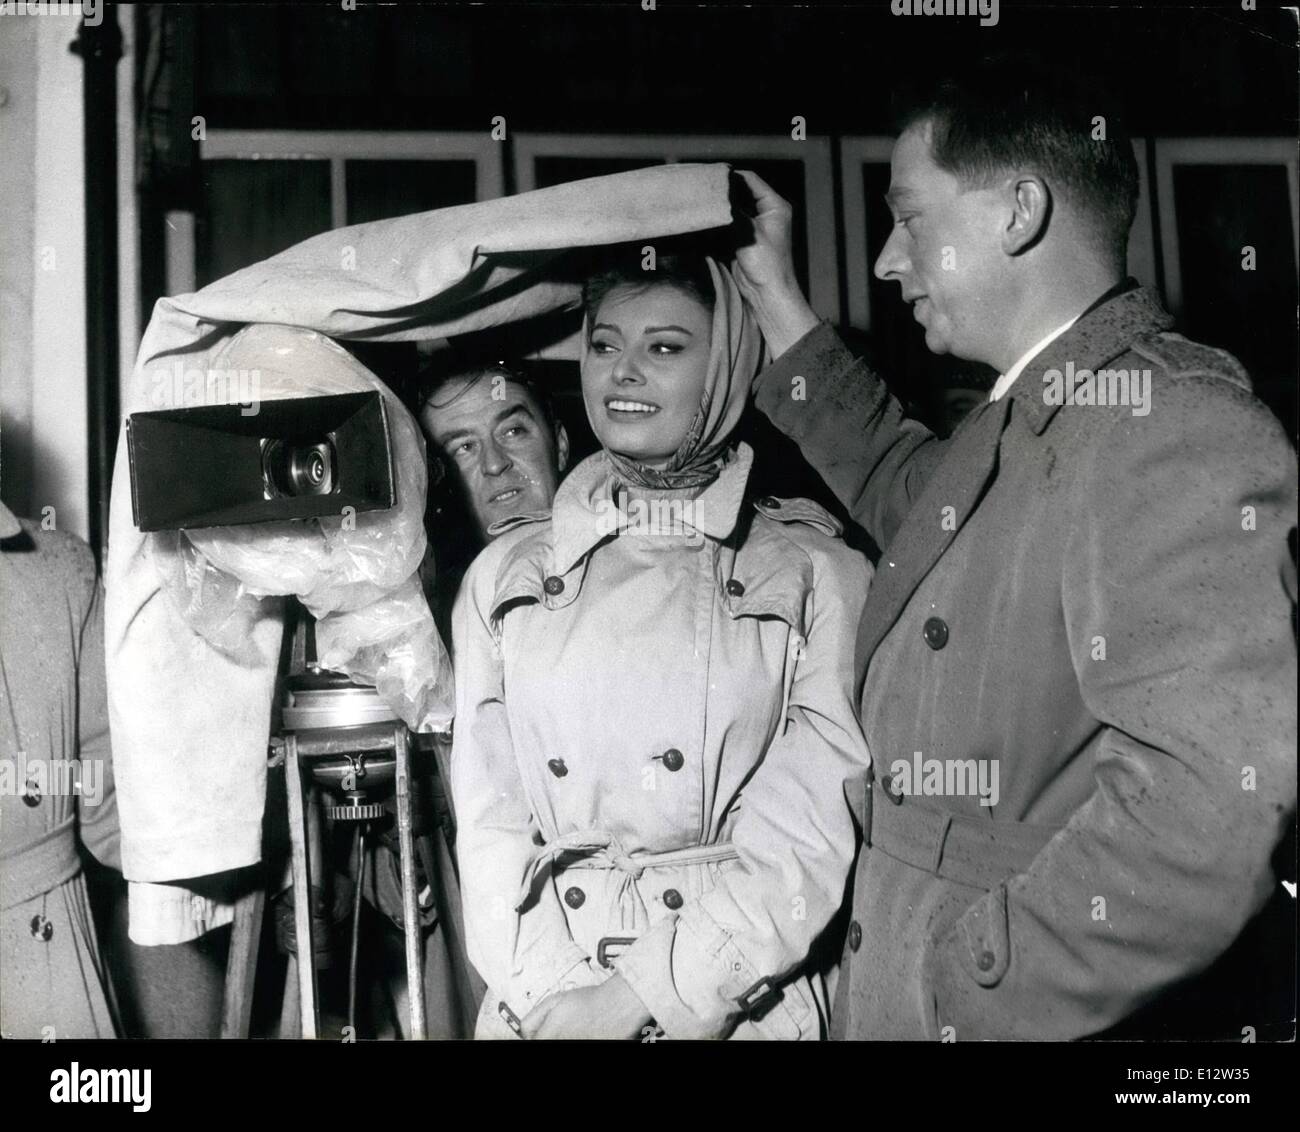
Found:
<path fill-rule="evenodd" d="M 911 97 L 898 129 L 930 122 L 935 164 L 966 185 L 1011 169 L 1039 173 L 1092 214 L 1102 246 L 1122 260 L 1138 211 L 1138 162 L 1105 87 L 1096 71 L 1082 81 L 1061 64 L 984 57 Z"/>

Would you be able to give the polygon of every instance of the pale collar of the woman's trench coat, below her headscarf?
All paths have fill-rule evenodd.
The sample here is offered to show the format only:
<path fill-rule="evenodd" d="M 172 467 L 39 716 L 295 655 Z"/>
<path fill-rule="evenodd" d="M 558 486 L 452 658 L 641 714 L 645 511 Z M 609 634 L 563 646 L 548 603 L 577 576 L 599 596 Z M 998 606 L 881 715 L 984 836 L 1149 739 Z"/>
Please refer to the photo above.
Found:
<path fill-rule="evenodd" d="M 555 548 L 555 573 L 568 573 L 598 542 L 619 529 L 620 509 L 618 494 L 625 508 L 632 499 L 682 499 L 692 506 L 685 509 L 689 525 L 718 542 L 736 528 L 745 485 L 749 481 L 754 452 L 749 444 L 738 444 L 727 455 L 718 478 L 703 489 L 676 489 L 666 491 L 620 493 L 614 468 L 604 452 L 588 456 L 578 464 L 555 493 L 551 506 L 551 541 Z"/>

